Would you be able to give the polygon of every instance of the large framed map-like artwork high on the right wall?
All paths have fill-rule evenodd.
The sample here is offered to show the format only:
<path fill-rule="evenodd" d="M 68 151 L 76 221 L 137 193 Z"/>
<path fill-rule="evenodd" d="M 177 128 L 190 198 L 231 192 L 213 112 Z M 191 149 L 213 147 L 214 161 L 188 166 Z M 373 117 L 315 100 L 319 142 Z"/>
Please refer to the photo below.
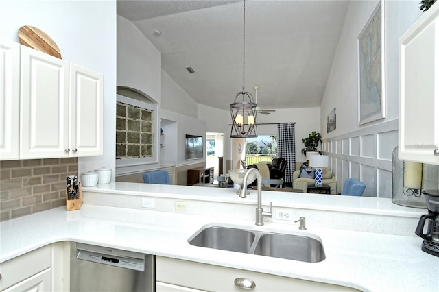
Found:
<path fill-rule="evenodd" d="M 358 123 L 385 117 L 384 1 L 379 1 L 357 40 Z"/>

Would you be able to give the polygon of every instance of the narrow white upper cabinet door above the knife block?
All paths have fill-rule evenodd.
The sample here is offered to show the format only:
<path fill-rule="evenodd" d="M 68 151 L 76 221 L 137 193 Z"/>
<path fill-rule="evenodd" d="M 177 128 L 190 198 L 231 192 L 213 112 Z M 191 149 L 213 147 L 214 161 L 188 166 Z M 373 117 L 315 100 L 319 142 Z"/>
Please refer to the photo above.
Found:
<path fill-rule="evenodd" d="M 104 154 L 103 80 L 101 74 L 70 64 L 71 156 Z"/>

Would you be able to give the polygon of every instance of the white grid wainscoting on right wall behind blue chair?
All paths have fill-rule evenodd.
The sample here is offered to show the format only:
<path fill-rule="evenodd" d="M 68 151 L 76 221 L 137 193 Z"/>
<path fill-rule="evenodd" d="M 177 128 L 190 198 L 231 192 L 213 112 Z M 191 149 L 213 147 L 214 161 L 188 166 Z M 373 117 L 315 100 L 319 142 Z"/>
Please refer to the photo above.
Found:
<path fill-rule="evenodd" d="M 392 151 L 398 145 L 398 120 L 324 139 L 323 154 L 342 193 L 346 178 L 366 184 L 365 197 L 392 197 Z"/>

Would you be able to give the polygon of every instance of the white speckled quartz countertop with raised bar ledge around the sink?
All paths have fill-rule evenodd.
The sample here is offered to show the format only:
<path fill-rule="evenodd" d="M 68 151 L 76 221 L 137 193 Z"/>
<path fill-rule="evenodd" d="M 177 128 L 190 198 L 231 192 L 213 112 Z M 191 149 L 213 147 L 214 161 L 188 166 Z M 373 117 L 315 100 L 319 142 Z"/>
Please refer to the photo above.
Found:
<path fill-rule="evenodd" d="M 439 291 L 439 257 L 420 250 L 414 235 L 427 210 L 391 199 L 263 191 L 263 205 L 307 218 L 276 218 L 254 225 L 256 191 L 246 199 L 233 189 L 111 183 L 83 188 L 81 210 L 56 208 L 0 223 L 0 263 L 58 241 L 104 245 L 199 263 L 247 269 L 353 287 L 362 291 Z M 149 206 L 142 208 L 142 199 Z M 188 210 L 176 211 L 176 201 Z M 304 263 L 195 247 L 188 239 L 204 226 L 230 226 L 313 236 L 326 259 Z"/>

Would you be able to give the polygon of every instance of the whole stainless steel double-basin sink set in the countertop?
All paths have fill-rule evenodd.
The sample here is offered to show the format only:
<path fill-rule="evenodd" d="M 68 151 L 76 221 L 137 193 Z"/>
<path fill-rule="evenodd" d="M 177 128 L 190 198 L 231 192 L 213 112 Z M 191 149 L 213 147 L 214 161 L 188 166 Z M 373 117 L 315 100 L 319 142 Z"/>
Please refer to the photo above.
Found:
<path fill-rule="evenodd" d="M 210 226 L 195 232 L 188 241 L 189 244 L 199 247 L 300 260 L 307 263 L 318 263 L 326 258 L 322 241 L 302 234 Z"/>

